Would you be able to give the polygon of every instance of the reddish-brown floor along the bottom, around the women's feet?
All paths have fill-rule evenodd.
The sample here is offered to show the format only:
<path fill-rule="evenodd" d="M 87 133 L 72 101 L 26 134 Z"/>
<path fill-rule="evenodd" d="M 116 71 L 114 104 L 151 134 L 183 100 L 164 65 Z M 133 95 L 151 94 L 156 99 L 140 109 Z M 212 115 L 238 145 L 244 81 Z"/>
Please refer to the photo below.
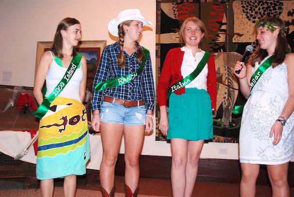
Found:
<path fill-rule="evenodd" d="M 84 177 L 77 179 L 77 188 L 100 191 L 100 184 L 86 185 Z M 23 179 L 0 179 L 0 190 L 22 190 Z M 62 187 L 63 179 L 55 179 L 55 187 Z M 124 177 L 115 177 L 117 193 L 124 193 Z M 171 197 L 171 184 L 169 179 L 140 179 L 140 195 Z M 290 188 L 290 196 L 294 197 L 294 188 Z M 239 183 L 196 182 L 192 197 L 239 197 Z M 256 197 L 271 197 L 270 186 L 257 185 Z"/>

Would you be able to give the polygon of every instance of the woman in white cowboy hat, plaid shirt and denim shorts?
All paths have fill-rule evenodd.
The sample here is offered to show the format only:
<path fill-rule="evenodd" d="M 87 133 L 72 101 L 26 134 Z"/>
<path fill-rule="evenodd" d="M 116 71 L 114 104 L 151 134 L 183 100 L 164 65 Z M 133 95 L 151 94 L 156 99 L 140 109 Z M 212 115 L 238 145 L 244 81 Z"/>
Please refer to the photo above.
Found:
<path fill-rule="evenodd" d="M 119 41 L 107 46 L 101 56 L 93 87 L 92 127 L 101 132 L 103 158 L 101 192 L 114 195 L 114 167 L 122 136 L 125 140 L 126 196 L 139 191 L 139 156 L 144 134 L 153 127 L 154 83 L 149 51 L 138 39 L 144 25 L 152 25 L 138 9 L 120 12 L 108 30 Z"/>

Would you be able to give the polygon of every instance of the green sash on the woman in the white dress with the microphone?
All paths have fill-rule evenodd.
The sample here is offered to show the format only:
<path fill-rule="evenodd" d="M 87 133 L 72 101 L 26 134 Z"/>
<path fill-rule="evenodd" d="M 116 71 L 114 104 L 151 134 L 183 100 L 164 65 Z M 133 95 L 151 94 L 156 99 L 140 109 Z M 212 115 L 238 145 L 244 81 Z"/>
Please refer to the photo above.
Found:
<path fill-rule="evenodd" d="M 253 87 L 257 84 L 257 81 L 260 79 L 261 75 L 272 65 L 273 61 L 275 60 L 274 56 L 270 56 L 267 60 L 265 60 L 254 72 L 250 79 L 250 94 L 253 89 Z M 235 106 L 232 110 L 232 113 L 234 114 L 240 114 L 242 113 L 244 108 L 244 105 L 242 106 Z"/>

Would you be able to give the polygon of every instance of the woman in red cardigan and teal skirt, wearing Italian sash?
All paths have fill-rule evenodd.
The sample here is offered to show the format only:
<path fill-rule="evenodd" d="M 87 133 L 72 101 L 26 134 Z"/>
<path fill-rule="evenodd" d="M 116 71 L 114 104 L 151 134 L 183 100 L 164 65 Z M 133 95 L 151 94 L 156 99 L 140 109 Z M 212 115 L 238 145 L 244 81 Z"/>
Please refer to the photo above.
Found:
<path fill-rule="evenodd" d="M 180 29 L 185 46 L 167 53 L 158 82 L 159 129 L 171 142 L 175 197 L 192 196 L 204 140 L 213 138 L 216 71 L 214 56 L 200 49 L 206 35 L 199 18 L 187 18 Z"/>

